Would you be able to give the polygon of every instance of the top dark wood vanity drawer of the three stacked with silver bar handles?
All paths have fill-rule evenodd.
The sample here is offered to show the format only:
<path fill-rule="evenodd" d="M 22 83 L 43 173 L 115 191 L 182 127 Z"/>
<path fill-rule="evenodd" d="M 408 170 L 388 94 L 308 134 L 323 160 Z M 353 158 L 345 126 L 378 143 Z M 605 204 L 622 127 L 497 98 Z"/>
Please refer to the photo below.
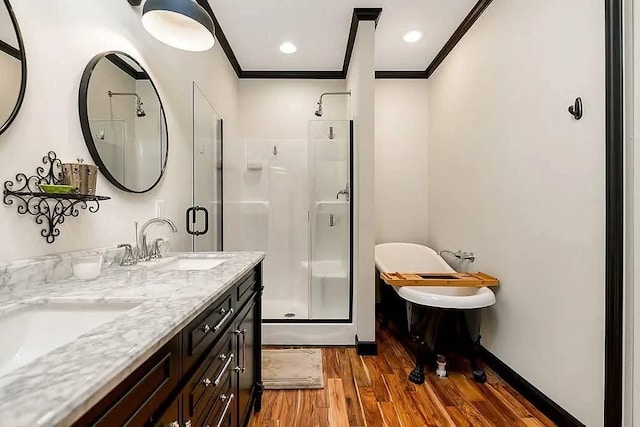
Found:
<path fill-rule="evenodd" d="M 211 345 L 225 332 L 234 317 L 231 293 L 219 298 L 195 318 L 182 333 L 184 357 L 182 369 L 187 373 Z"/>

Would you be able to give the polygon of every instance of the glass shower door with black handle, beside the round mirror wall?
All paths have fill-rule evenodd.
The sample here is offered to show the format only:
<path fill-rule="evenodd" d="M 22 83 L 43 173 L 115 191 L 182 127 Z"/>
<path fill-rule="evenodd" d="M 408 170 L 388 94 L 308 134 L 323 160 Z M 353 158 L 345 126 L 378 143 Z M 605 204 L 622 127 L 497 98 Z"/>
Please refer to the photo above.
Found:
<path fill-rule="evenodd" d="M 193 208 L 195 252 L 222 250 L 222 118 L 193 83 Z"/>

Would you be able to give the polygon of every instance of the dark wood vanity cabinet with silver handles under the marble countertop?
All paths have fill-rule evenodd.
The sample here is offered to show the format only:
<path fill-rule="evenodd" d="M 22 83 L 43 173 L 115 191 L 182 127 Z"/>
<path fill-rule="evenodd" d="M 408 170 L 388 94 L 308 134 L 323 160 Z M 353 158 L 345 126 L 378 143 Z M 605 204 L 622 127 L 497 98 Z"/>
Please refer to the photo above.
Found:
<path fill-rule="evenodd" d="M 258 265 L 75 425 L 247 425 L 262 400 L 261 279 Z"/>

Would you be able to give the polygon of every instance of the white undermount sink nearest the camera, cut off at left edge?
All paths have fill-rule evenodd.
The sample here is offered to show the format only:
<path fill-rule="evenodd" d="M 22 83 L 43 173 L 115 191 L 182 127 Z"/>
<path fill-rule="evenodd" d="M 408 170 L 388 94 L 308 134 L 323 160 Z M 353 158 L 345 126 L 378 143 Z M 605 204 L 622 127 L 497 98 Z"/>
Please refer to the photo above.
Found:
<path fill-rule="evenodd" d="M 74 341 L 139 303 L 34 303 L 0 315 L 0 376 Z"/>

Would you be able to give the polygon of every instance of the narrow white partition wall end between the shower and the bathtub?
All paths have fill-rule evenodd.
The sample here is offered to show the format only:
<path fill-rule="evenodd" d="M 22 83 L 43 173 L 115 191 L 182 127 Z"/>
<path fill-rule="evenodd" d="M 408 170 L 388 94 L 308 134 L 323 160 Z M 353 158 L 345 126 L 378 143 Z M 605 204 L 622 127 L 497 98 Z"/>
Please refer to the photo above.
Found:
<path fill-rule="evenodd" d="M 358 339 L 375 341 L 375 22 L 361 21 L 347 74 L 354 121 L 354 295 Z"/>

